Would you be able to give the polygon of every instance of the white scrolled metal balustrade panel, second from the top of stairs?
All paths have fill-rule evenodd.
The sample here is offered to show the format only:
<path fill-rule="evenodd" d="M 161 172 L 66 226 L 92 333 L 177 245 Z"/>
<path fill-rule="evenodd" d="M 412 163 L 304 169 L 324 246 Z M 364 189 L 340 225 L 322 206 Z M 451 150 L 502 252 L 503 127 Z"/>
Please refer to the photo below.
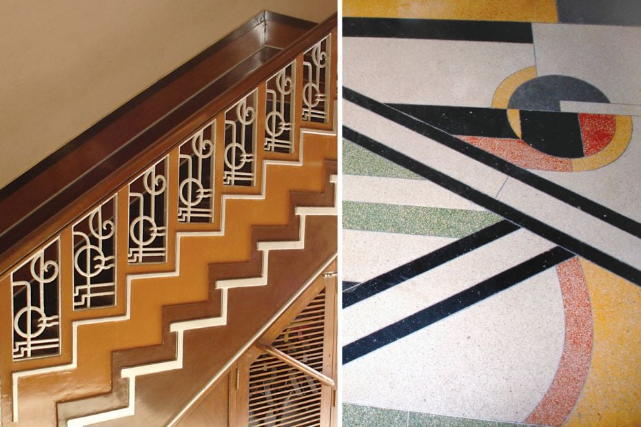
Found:
<path fill-rule="evenodd" d="M 296 61 L 267 80 L 265 151 L 291 153 L 294 143 L 294 70 Z"/>

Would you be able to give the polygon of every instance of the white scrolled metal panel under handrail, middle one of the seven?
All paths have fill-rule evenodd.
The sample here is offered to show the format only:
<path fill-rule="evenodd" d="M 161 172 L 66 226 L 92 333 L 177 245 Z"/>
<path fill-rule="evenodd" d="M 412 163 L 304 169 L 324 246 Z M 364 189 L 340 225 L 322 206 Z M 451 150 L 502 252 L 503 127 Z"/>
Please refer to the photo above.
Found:
<path fill-rule="evenodd" d="M 212 222 L 214 218 L 214 143 L 212 121 L 180 147 L 179 222 Z"/>

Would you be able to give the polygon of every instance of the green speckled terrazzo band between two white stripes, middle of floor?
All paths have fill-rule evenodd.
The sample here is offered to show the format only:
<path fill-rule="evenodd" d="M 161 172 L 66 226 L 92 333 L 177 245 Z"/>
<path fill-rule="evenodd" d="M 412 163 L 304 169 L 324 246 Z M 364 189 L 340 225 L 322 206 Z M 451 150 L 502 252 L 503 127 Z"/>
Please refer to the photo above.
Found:
<path fill-rule="evenodd" d="M 343 228 L 462 238 L 502 218 L 488 211 L 343 202 Z"/>

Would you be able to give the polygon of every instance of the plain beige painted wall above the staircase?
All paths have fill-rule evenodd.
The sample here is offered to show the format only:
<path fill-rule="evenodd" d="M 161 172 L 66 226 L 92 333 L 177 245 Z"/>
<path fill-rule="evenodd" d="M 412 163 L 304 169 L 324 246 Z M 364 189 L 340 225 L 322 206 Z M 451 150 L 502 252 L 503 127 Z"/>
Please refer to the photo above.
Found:
<path fill-rule="evenodd" d="M 261 10 L 336 0 L 0 1 L 0 187 Z"/>

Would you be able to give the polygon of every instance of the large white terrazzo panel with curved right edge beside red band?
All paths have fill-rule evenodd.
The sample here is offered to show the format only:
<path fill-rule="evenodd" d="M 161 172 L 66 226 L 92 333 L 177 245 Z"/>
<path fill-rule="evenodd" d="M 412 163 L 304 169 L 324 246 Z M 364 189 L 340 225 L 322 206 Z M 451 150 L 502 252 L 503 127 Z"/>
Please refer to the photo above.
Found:
<path fill-rule="evenodd" d="M 564 311 L 544 271 L 343 366 L 343 402 L 523 421 L 560 362 Z"/>

